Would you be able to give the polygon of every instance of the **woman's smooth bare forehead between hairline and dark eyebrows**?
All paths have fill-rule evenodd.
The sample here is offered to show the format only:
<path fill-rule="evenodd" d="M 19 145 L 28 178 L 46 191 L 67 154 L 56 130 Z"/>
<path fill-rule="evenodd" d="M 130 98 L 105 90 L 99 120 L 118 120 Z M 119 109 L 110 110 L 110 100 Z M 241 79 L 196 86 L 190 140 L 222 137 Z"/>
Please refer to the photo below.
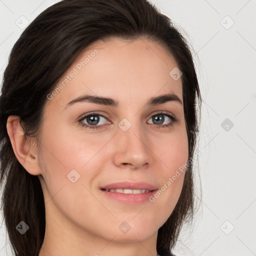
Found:
<path fill-rule="evenodd" d="M 174 57 L 157 42 L 145 38 L 99 40 L 84 49 L 65 71 L 57 83 L 61 89 L 49 103 L 64 108 L 83 94 L 134 103 L 170 92 L 182 100 L 181 78 L 172 78 L 173 68 L 177 68 Z"/>

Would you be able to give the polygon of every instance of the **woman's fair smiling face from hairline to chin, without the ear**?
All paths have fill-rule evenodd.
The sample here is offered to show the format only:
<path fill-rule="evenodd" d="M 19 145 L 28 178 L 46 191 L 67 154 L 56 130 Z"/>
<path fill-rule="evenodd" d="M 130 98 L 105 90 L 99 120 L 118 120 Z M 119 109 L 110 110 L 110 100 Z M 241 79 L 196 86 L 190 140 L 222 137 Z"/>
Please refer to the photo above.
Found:
<path fill-rule="evenodd" d="M 172 55 L 147 39 L 97 41 L 79 55 L 44 108 L 38 164 L 46 231 L 57 226 L 62 234 L 118 241 L 156 237 L 178 200 L 179 168 L 188 160 L 178 77 Z M 171 93 L 181 102 L 157 100 Z M 139 190 L 148 188 L 155 190 Z"/>

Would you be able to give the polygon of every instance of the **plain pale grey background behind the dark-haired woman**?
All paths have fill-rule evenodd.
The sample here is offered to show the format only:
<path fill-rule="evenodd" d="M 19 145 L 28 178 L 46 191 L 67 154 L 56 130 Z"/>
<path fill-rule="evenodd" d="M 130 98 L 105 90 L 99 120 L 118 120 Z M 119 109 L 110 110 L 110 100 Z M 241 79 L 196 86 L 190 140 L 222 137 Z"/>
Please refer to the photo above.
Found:
<path fill-rule="evenodd" d="M 0 80 L 11 47 L 52 0 L 0 0 Z M 151 0 L 193 47 L 203 98 L 197 203 L 174 253 L 256 255 L 256 0 Z M 199 175 L 202 186 L 200 193 Z M 0 255 L 11 255 L 5 226 Z"/>

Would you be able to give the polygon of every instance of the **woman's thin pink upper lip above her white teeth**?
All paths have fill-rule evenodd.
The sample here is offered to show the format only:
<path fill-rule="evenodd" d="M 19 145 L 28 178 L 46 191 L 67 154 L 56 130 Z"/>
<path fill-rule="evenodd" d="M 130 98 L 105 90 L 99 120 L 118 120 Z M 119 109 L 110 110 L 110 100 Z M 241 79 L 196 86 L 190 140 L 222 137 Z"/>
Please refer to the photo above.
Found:
<path fill-rule="evenodd" d="M 108 185 L 101 186 L 100 189 L 148 189 L 148 190 L 155 190 L 157 189 L 156 186 L 149 184 L 147 182 L 131 182 L 131 181 L 120 181 L 110 183 Z"/>

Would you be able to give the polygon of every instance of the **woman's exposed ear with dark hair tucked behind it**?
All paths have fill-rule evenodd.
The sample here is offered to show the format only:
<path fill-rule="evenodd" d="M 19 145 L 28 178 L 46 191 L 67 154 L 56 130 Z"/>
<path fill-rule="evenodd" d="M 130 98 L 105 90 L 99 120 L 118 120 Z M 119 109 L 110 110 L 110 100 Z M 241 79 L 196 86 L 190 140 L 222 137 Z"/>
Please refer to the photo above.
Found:
<path fill-rule="evenodd" d="M 30 174 L 40 174 L 38 157 L 34 156 L 30 140 L 25 135 L 25 131 L 20 125 L 19 116 L 10 115 L 7 119 L 6 128 L 17 160 Z"/>

